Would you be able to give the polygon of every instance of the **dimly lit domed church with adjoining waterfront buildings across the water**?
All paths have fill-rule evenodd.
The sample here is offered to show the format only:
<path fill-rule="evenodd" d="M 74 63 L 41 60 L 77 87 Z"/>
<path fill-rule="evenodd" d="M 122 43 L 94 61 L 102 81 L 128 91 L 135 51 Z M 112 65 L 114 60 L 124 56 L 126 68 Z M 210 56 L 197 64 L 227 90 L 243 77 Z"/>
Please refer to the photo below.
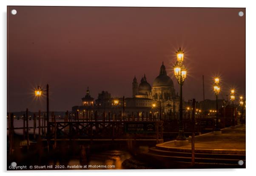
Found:
<path fill-rule="evenodd" d="M 114 103 L 117 102 L 117 103 Z M 147 82 L 146 75 L 140 83 L 134 77 L 132 82 L 132 97 L 114 98 L 107 91 L 99 93 L 98 98 L 90 96 L 89 89 L 82 98 L 82 106 L 72 107 L 72 111 L 86 111 L 89 116 L 98 117 L 156 117 L 175 118 L 178 114 L 179 97 L 175 93 L 174 82 L 167 75 L 164 63 L 160 66 L 159 75 L 154 79 L 152 86 Z"/>

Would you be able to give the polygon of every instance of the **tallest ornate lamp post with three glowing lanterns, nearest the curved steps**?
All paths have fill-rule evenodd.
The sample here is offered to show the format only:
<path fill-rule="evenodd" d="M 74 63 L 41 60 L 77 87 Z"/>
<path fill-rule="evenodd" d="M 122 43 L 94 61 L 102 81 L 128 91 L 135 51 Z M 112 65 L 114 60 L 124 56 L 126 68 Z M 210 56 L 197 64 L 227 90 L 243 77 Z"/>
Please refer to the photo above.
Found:
<path fill-rule="evenodd" d="M 186 140 L 186 137 L 184 135 L 184 126 L 183 126 L 183 107 L 182 107 L 182 85 L 184 84 L 184 81 L 187 76 L 187 70 L 185 69 L 185 66 L 183 65 L 184 60 L 184 52 L 179 48 L 179 50 L 176 52 L 177 55 L 177 61 L 174 65 L 174 75 L 176 79 L 178 80 L 178 83 L 180 85 L 180 95 L 179 95 L 179 134 L 176 138 L 176 140 Z"/>

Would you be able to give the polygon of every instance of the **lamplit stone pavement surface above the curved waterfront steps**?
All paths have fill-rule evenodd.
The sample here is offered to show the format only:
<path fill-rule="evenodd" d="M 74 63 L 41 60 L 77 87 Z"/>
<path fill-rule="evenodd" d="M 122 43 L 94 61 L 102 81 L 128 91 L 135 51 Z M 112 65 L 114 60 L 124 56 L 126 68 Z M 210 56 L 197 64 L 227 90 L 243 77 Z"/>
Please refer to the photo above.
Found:
<path fill-rule="evenodd" d="M 245 125 L 222 129 L 222 135 L 214 135 L 213 132 L 195 137 L 195 151 L 225 154 L 245 154 Z M 191 141 L 191 138 L 189 138 Z M 185 146 L 175 146 L 174 140 L 157 144 L 158 149 L 176 149 L 191 151 L 191 142 Z M 201 153 L 200 152 L 200 153 Z M 208 153 L 208 152 L 207 152 Z"/>

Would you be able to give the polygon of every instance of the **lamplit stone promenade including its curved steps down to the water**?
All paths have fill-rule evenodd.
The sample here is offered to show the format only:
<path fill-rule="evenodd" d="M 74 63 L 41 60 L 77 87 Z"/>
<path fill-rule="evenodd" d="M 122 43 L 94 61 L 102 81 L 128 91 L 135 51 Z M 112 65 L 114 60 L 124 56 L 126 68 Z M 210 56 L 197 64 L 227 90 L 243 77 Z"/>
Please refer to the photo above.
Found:
<path fill-rule="evenodd" d="M 175 140 L 156 144 L 147 155 L 162 168 L 245 168 L 245 125 L 222 129 L 222 135 L 209 132 L 196 136 L 194 165 L 191 164 L 191 137 L 188 140 L 185 146 L 175 146 Z M 240 160 L 242 165 L 238 164 Z"/>

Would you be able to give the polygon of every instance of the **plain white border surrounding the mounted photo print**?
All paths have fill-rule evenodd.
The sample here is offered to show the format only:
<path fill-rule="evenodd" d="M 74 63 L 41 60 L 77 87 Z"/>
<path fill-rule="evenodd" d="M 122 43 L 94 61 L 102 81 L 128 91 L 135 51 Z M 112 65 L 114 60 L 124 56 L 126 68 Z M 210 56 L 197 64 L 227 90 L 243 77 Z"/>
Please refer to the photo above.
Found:
<path fill-rule="evenodd" d="M 247 169 L 201 169 L 201 170 L 116 170 L 116 171 L 87 171 L 81 172 L 75 170 L 75 173 L 80 173 L 81 175 L 99 175 L 99 174 L 107 174 L 107 175 L 120 175 L 123 176 L 131 174 L 139 174 L 142 175 L 146 173 L 147 175 L 156 175 L 157 172 L 161 174 L 178 174 L 178 175 L 216 175 L 216 174 L 232 174 L 232 175 L 249 175 L 253 173 L 255 162 L 255 141 L 256 141 L 256 128 L 253 126 L 255 123 L 255 108 L 253 109 L 254 101 L 256 101 L 255 90 L 255 71 L 254 66 L 256 65 L 255 58 L 255 41 L 256 41 L 256 6 L 253 3 L 253 0 L 232 0 L 232 1 L 224 1 L 224 0 L 8 0 L 8 1 L 0 1 L 0 9 L 1 9 L 1 39 L 0 42 L 0 83 L 1 83 L 1 126 L 2 126 L 2 134 L 1 135 L 1 159 L 0 159 L 0 170 L 4 172 L 6 170 L 6 5 L 51 5 L 51 6 L 144 6 L 144 7 L 239 7 L 246 8 L 246 107 L 247 107 L 247 135 L 246 135 L 246 167 Z M 230 60 L 232 61 L 232 60 Z M 60 172 L 60 171 L 57 171 Z M 3 173 L 8 174 L 8 173 Z M 13 173 L 9 173 L 13 174 Z M 19 175 L 35 175 L 35 173 L 17 173 Z M 36 173 L 39 175 L 49 174 L 46 171 Z M 70 175 L 71 171 L 65 171 L 60 173 L 62 175 Z"/>

